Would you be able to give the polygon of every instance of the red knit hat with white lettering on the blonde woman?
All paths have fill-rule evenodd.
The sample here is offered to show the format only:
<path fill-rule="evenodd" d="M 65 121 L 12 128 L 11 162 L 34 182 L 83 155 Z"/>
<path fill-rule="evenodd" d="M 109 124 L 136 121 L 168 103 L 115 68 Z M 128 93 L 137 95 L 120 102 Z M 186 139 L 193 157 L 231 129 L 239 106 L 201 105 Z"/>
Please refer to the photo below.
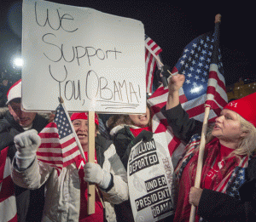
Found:
<path fill-rule="evenodd" d="M 231 101 L 223 109 L 236 111 L 241 117 L 253 123 L 253 126 L 256 127 L 256 93 Z"/>

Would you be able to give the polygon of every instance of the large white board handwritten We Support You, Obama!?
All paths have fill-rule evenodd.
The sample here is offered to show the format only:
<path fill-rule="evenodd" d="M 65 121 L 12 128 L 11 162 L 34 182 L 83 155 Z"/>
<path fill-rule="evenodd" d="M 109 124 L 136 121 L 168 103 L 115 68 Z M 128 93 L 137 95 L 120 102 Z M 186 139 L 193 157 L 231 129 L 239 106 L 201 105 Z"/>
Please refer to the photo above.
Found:
<path fill-rule="evenodd" d="M 55 111 L 146 111 L 143 23 L 95 9 L 24 0 L 22 105 Z"/>

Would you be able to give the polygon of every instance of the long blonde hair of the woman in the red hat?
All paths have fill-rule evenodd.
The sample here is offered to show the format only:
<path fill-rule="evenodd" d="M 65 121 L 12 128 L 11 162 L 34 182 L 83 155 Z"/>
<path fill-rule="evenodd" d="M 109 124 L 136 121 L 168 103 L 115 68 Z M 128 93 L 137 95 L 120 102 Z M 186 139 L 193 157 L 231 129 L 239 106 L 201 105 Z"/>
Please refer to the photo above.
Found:
<path fill-rule="evenodd" d="M 244 137 L 241 137 L 237 148 L 229 155 L 241 158 L 241 156 L 250 156 L 256 151 L 256 128 L 251 122 L 248 122 L 245 118 L 236 113 L 238 121 L 241 124 L 241 132 L 246 133 Z M 206 144 L 209 143 L 214 136 L 212 135 L 212 128 L 214 124 L 207 128 Z"/>

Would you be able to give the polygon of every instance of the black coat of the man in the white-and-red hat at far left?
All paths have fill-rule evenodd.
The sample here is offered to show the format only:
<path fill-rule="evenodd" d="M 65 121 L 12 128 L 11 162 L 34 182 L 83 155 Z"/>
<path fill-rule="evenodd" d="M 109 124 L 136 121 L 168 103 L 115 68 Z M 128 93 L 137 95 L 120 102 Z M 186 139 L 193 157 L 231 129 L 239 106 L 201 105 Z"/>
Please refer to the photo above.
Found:
<path fill-rule="evenodd" d="M 38 133 L 47 125 L 48 121 L 36 115 L 32 128 Z M 12 161 L 15 157 L 16 147 L 14 137 L 24 132 L 20 124 L 15 122 L 9 111 L 0 121 L 0 151 L 9 146 L 8 157 Z M 44 210 L 44 186 L 38 190 L 27 190 L 15 185 L 18 221 L 41 221 Z"/>

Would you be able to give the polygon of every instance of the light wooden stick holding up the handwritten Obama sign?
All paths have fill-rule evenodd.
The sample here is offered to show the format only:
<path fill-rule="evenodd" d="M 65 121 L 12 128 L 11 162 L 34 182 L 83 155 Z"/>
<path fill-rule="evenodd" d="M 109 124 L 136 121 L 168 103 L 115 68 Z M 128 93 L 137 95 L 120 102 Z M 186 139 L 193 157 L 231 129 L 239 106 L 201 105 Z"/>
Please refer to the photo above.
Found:
<path fill-rule="evenodd" d="M 89 120 L 89 150 L 88 162 L 95 162 L 95 111 L 88 112 Z M 95 185 L 88 183 L 88 206 L 87 213 L 95 213 Z"/>

